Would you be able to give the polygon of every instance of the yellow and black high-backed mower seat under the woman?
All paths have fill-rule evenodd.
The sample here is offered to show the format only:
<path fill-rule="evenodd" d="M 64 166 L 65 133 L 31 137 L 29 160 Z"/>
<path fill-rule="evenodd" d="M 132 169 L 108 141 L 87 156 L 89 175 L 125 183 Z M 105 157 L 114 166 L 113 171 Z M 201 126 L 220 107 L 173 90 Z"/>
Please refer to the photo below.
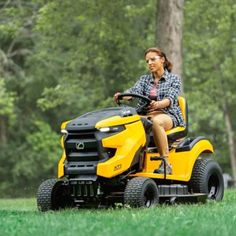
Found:
<path fill-rule="evenodd" d="M 178 103 L 184 118 L 185 127 L 177 126 L 171 130 L 166 131 L 169 142 L 174 142 L 177 139 L 184 138 L 188 134 L 188 106 L 186 99 L 182 96 L 179 96 Z"/>

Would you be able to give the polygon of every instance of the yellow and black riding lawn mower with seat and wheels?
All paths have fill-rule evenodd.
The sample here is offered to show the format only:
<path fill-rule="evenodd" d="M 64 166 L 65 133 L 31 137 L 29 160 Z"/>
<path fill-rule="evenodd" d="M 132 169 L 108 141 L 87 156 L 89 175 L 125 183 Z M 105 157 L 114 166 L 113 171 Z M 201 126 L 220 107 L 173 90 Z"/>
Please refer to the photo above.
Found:
<path fill-rule="evenodd" d="M 141 116 L 150 100 L 130 93 L 121 94 L 118 100 L 124 97 L 138 99 L 143 105 L 122 104 L 62 123 L 58 176 L 39 186 L 39 210 L 222 200 L 222 171 L 211 157 L 212 144 L 202 136 L 186 137 L 185 99 L 178 98 L 186 127 L 167 132 L 172 165 L 169 175 L 156 173 L 164 160 L 154 145 L 151 121 Z"/>

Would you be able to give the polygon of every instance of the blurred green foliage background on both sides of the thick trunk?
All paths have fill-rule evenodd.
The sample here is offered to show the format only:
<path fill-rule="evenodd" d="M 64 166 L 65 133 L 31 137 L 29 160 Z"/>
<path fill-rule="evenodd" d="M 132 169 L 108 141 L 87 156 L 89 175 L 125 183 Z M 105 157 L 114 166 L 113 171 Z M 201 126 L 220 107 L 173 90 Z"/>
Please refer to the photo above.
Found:
<path fill-rule="evenodd" d="M 145 3 L 144 3 L 145 2 Z M 146 72 L 155 0 L 9 0 L 0 3 L 1 195 L 30 195 L 54 176 L 63 120 L 114 106 Z M 234 0 L 185 1 L 184 91 L 190 135 L 205 135 L 230 172 L 224 107 L 233 129 Z"/>

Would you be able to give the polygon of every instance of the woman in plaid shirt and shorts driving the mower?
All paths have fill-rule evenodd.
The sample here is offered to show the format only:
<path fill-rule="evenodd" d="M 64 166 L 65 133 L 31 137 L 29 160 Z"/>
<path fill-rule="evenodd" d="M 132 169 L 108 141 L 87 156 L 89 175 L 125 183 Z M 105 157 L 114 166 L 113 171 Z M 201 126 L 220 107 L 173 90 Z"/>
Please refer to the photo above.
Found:
<path fill-rule="evenodd" d="M 168 139 L 165 131 L 185 125 L 178 105 L 181 80 L 177 75 L 171 73 L 172 64 L 159 48 L 147 49 L 144 56 L 150 74 L 141 76 L 135 85 L 126 92 L 143 95 L 152 100 L 145 117 L 153 122 L 155 144 L 160 156 L 166 160 L 167 174 L 171 174 L 172 168 L 168 162 Z M 114 95 L 115 101 L 117 101 L 119 94 Z M 164 163 L 162 162 L 156 173 L 163 172 Z"/>

